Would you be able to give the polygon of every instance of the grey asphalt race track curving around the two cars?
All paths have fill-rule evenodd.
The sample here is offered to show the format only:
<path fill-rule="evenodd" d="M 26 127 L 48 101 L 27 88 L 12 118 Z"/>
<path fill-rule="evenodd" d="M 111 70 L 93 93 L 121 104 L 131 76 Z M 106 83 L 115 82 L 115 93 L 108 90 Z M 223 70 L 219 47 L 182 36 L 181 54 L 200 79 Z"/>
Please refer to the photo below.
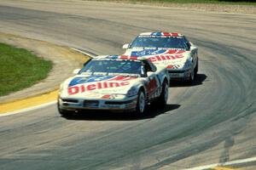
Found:
<path fill-rule="evenodd" d="M 0 169 L 183 169 L 256 156 L 256 17 L 74 1 L 1 1 L 0 31 L 94 54 L 122 54 L 143 31 L 178 31 L 200 49 L 192 86 L 166 109 L 64 118 L 56 106 L 0 118 Z M 256 163 L 241 165 L 255 169 Z"/>

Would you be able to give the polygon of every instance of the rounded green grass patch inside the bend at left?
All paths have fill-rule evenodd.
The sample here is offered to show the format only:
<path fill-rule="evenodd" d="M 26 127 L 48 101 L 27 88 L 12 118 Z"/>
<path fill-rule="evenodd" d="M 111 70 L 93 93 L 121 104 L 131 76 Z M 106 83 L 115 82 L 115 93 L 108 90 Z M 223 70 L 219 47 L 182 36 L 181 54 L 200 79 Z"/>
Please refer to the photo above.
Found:
<path fill-rule="evenodd" d="M 22 48 L 0 43 L 0 96 L 31 87 L 47 77 L 52 63 Z"/>

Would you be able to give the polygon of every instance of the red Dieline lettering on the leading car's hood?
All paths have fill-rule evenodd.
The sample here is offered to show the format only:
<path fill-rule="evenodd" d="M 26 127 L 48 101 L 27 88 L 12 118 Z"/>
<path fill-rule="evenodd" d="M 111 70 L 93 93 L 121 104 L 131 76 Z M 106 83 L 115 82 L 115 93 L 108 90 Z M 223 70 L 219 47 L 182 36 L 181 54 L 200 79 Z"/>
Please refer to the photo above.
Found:
<path fill-rule="evenodd" d="M 95 82 L 90 84 L 79 84 L 67 88 L 69 95 L 80 94 L 102 88 L 118 88 L 129 85 L 130 82 Z"/>

